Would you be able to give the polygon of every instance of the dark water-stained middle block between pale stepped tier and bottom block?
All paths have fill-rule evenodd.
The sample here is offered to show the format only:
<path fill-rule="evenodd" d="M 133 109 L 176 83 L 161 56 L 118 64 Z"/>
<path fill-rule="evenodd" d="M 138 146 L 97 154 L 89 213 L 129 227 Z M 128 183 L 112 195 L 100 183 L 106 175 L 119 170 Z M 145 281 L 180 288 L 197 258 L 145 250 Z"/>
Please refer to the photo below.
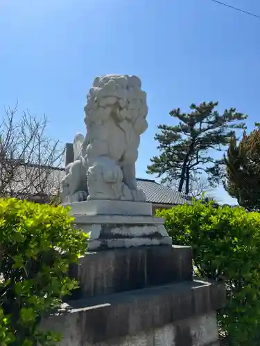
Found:
<path fill-rule="evenodd" d="M 192 280 L 189 246 L 143 246 L 87 253 L 70 268 L 74 299 Z"/>

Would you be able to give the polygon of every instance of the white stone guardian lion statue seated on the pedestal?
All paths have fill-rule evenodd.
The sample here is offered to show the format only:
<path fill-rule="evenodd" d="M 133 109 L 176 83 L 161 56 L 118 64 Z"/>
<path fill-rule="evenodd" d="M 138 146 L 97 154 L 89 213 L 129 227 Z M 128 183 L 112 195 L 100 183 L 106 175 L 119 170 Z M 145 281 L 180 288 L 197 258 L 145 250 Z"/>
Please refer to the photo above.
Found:
<path fill-rule="evenodd" d="M 77 134 L 74 162 L 62 181 L 62 201 L 145 201 L 137 190 L 135 162 L 148 125 L 146 93 L 136 76 L 103 75 L 87 95 L 87 135 Z"/>

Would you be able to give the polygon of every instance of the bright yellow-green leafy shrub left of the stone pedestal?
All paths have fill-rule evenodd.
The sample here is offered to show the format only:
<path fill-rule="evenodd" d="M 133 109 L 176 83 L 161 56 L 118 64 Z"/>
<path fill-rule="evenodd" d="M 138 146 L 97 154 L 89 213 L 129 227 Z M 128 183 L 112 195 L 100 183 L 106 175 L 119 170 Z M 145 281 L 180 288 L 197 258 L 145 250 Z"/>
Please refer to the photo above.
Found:
<path fill-rule="evenodd" d="M 69 264 L 86 251 L 84 233 L 62 207 L 0 199 L 0 345 L 53 345 L 40 322 L 76 288 Z"/>

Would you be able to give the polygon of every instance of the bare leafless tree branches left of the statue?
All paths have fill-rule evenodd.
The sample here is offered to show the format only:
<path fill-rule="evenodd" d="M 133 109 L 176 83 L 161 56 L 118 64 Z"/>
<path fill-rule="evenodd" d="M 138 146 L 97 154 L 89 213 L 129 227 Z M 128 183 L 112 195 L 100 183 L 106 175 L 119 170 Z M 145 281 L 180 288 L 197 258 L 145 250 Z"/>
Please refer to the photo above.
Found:
<path fill-rule="evenodd" d="M 6 109 L 0 124 L 1 196 L 50 199 L 58 192 L 64 147 L 47 135 L 47 125 L 46 116 L 19 116 L 17 105 Z"/>

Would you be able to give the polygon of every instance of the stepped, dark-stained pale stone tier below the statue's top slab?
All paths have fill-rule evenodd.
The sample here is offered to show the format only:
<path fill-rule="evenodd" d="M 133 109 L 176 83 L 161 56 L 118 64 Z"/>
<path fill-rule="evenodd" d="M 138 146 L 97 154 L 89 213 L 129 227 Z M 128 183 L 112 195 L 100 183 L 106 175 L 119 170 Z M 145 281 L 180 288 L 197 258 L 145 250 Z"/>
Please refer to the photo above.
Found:
<path fill-rule="evenodd" d="M 164 220 L 156 217 L 75 215 L 75 223 L 89 233 L 89 251 L 172 244 Z"/>

